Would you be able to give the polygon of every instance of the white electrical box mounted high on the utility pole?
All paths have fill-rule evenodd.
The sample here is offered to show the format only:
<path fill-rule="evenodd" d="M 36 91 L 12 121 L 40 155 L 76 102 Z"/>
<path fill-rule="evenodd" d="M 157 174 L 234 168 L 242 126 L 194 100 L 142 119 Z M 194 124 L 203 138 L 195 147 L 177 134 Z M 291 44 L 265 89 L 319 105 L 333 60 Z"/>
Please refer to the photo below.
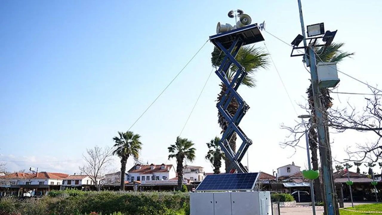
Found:
<path fill-rule="evenodd" d="M 317 75 L 320 87 L 335 87 L 340 82 L 340 79 L 338 79 L 337 63 L 317 63 Z"/>

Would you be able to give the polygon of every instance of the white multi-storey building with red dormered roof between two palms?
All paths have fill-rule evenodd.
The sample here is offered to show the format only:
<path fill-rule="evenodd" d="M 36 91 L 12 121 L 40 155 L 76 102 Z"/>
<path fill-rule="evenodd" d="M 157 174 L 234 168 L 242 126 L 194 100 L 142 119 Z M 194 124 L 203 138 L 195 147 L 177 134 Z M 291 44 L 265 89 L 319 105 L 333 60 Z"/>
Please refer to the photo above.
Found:
<path fill-rule="evenodd" d="M 137 164 L 128 171 L 130 181 L 160 181 L 176 177 L 173 165 L 140 165 Z M 147 182 L 144 182 L 147 184 Z"/>

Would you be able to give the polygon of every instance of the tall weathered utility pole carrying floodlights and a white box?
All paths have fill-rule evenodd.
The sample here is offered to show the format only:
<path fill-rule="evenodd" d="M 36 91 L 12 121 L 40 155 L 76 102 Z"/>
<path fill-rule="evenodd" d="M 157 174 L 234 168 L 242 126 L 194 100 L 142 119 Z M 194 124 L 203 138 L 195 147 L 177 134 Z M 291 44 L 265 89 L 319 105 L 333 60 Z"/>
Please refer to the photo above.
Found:
<path fill-rule="evenodd" d="M 334 183 L 332 181 L 332 167 L 331 167 L 331 154 L 330 154 L 330 145 L 327 142 L 324 120 L 322 115 L 322 104 L 319 99 L 319 85 L 318 85 L 318 76 L 317 76 L 317 67 L 316 67 L 316 54 L 314 53 L 313 47 L 306 46 L 306 37 L 305 37 L 305 26 L 303 19 L 303 11 L 301 7 L 301 0 L 298 1 L 298 9 L 300 13 L 300 22 L 301 22 L 301 30 L 303 35 L 303 42 L 305 49 L 304 59 L 307 61 L 309 59 L 309 67 L 311 73 L 311 81 L 312 81 L 312 91 L 313 91 L 313 99 L 314 99 L 314 112 L 316 114 L 316 124 L 318 131 L 318 143 L 319 143 L 319 151 L 320 151 L 320 161 L 321 161 L 321 174 L 322 181 L 324 185 L 324 214 L 325 215 L 335 215 L 334 208 Z M 309 57 L 307 56 L 309 55 Z M 307 61 L 308 63 L 308 61 Z"/>

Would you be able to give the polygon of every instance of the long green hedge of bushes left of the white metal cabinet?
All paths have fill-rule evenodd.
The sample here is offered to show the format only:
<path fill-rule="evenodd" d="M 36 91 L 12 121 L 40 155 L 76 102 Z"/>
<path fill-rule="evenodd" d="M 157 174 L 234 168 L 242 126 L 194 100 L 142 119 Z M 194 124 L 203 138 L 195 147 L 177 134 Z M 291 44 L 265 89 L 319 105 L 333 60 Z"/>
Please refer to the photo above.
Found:
<path fill-rule="evenodd" d="M 0 200 L 0 215 L 189 215 L 182 192 L 51 191 L 41 199 Z"/>

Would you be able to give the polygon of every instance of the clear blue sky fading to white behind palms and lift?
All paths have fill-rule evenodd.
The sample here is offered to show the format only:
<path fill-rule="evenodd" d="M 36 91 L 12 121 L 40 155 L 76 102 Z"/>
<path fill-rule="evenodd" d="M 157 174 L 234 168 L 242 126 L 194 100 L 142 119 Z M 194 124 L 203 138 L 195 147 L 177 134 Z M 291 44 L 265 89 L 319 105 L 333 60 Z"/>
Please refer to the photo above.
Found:
<path fill-rule="evenodd" d="M 326 30 L 338 29 L 335 42 L 345 42 L 344 50 L 356 53 L 338 68 L 379 84 L 382 2 L 302 0 L 302 5 L 306 25 L 324 22 Z M 297 1 L 1 1 L 0 160 L 11 171 L 79 172 L 86 148 L 111 146 L 117 131 L 126 131 L 215 34 L 218 21 L 234 24 L 227 13 L 235 9 L 248 13 L 253 23 L 265 20 L 267 31 L 288 43 L 301 34 Z M 301 58 L 290 57 L 290 47 L 263 34 L 297 111 L 304 113 L 296 104 L 305 102 L 309 73 Z M 208 43 L 132 128 L 142 136 L 144 162 L 175 163 L 167 160 L 167 147 L 212 70 L 212 49 Z M 338 91 L 370 92 L 342 74 L 339 78 Z M 240 89 L 251 107 L 240 124 L 253 140 L 249 169 L 272 173 L 292 161 L 305 168 L 303 149 L 293 155 L 293 149 L 279 145 L 287 134 L 280 124 L 295 124 L 296 113 L 274 66 L 259 71 L 256 79 L 255 89 Z M 212 168 L 204 159 L 205 143 L 220 136 L 219 91 L 212 74 L 182 134 L 195 143 L 193 164 L 206 171 Z M 365 105 L 359 95 L 333 98 L 340 107 L 348 100 L 358 108 Z M 332 134 L 333 156 L 343 158 L 347 146 L 375 139 L 372 134 Z M 110 170 L 119 164 L 116 159 Z"/>

